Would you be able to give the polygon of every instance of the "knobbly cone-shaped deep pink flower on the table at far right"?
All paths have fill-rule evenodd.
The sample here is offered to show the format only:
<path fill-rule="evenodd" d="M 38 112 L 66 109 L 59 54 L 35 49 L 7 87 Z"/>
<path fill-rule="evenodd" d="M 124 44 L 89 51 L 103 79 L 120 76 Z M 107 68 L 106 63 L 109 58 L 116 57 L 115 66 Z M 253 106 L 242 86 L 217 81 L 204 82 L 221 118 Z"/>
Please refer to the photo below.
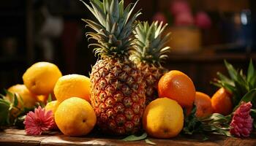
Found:
<path fill-rule="evenodd" d="M 253 119 L 249 112 L 252 108 L 251 102 L 241 103 L 241 106 L 234 112 L 230 123 L 230 134 L 236 137 L 249 137 L 252 132 Z"/>

